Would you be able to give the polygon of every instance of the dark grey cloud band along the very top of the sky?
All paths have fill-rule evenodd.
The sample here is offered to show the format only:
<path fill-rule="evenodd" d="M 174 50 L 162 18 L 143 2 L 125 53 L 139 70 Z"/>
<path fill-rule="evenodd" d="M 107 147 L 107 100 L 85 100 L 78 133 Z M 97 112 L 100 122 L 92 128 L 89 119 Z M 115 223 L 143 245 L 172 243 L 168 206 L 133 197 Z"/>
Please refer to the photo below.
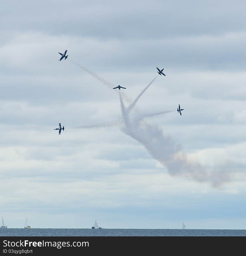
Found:
<path fill-rule="evenodd" d="M 22 1 L 9 8 L 8 2 L 1 8 L 5 29 L 58 35 L 156 39 L 245 30 L 243 1 L 73 1 L 69 7 L 65 1 Z"/>

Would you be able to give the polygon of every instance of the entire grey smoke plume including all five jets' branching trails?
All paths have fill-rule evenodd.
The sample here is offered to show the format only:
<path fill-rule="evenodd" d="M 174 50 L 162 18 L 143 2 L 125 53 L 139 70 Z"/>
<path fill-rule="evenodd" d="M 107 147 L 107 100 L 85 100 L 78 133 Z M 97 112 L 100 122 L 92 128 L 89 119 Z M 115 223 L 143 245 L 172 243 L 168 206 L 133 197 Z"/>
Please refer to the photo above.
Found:
<path fill-rule="evenodd" d="M 72 62 L 103 84 L 107 85 L 109 88 L 115 87 L 114 84 L 99 77 L 87 68 L 74 61 Z M 130 117 L 129 114 L 131 110 L 133 110 L 139 98 L 148 89 L 148 87 L 150 87 L 156 78 L 157 76 L 141 91 L 141 93 L 139 93 L 134 101 L 126 97 L 124 92 L 119 91 L 122 119 L 94 125 L 77 126 L 73 128 L 86 129 L 120 126 L 120 130 L 123 133 L 141 143 L 154 159 L 162 163 L 162 165 L 167 168 L 167 171 L 171 176 L 181 176 L 198 182 L 208 182 L 214 187 L 219 187 L 223 183 L 230 181 L 232 172 L 223 171 L 223 167 L 218 167 L 217 170 L 209 170 L 202 166 L 199 162 L 189 160 L 187 154 L 182 151 L 182 147 L 176 144 L 170 136 L 164 135 L 160 127 L 155 124 L 149 124 L 143 120 L 144 117 L 166 114 L 175 110 L 160 111 L 149 114 L 137 113 L 134 118 Z M 127 108 L 124 105 L 123 96 L 125 100 L 131 102 Z"/>

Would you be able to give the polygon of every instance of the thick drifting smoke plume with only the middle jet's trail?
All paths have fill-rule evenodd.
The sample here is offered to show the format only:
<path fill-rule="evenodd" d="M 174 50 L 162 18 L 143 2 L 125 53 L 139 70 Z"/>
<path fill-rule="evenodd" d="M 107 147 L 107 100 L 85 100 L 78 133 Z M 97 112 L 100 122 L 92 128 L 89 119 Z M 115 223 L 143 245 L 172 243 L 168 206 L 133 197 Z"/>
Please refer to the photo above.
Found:
<path fill-rule="evenodd" d="M 152 157 L 167 168 L 171 176 L 182 176 L 198 182 L 209 182 L 214 187 L 230 181 L 229 172 L 209 172 L 200 163 L 191 162 L 170 136 L 164 136 L 161 128 L 139 119 L 130 120 L 120 96 L 125 126 L 121 131 L 141 143 Z"/>

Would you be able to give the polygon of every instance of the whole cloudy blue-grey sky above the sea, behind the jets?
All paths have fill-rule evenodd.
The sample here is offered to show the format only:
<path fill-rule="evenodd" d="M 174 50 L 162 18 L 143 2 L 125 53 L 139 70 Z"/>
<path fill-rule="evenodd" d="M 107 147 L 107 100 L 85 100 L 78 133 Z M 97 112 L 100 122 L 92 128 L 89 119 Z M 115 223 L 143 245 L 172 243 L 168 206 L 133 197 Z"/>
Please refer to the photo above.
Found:
<path fill-rule="evenodd" d="M 5 225 L 246 229 L 245 9 L 2 1 Z"/>

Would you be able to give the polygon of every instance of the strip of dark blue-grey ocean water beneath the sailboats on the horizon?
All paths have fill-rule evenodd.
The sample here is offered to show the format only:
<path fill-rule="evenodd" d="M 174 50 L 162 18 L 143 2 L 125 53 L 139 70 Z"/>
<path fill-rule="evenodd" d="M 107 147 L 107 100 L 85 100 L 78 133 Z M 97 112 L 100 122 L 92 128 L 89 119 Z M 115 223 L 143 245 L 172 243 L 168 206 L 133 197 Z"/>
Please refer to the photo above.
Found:
<path fill-rule="evenodd" d="M 0 229 L 0 236 L 246 236 L 245 229 Z"/>

